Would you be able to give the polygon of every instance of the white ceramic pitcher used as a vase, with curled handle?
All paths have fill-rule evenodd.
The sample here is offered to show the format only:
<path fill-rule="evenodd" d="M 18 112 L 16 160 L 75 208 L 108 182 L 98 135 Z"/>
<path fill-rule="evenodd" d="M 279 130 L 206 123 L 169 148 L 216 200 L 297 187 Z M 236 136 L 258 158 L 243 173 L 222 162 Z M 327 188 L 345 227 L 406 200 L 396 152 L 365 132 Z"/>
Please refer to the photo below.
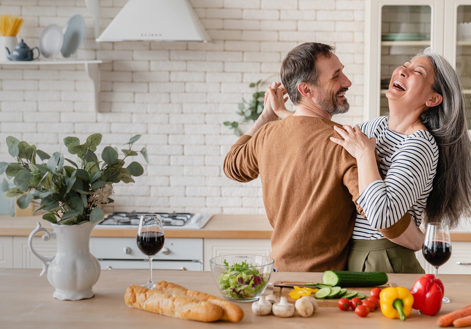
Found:
<path fill-rule="evenodd" d="M 86 222 L 80 225 L 52 224 L 54 232 L 41 227 L 36 228 L 28 238 L 28 247 L 42 261 L 43 275 L 47 272 L 49 283 L 56 288 L 53 297 L 60 300 L 79 300 L 91 298 L 95 294 L 92 287 L 100 277 L 98 259 L 90 253 L 89 243 L 93 227 L 97 223 Z M 51 257 L 38 254 L 32 247 L 33 236 L 43 231 L 42 239 L 57 239 L 57 253 Z"/>

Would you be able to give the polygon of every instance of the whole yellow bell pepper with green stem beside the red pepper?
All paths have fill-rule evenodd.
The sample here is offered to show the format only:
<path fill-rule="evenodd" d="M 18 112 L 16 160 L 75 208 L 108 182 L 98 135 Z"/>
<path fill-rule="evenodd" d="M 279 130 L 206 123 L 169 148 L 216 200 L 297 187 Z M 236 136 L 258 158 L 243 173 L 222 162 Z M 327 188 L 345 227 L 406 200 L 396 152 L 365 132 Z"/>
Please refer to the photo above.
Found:
<path fill-rule="evenodd" d="M 405 321 L 412 313 L 414 296 L 404 287 L 388 287 L 380 292 L 380 304 L 385 316 Z"/>

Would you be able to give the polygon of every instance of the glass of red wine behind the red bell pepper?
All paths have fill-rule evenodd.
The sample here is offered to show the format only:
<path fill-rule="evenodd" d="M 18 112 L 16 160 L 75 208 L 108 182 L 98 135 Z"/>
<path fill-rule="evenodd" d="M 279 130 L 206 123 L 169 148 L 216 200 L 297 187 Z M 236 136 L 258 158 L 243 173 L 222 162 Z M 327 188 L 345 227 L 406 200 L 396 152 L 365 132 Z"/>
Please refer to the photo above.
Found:
<path fill-rule="evenodd" d="M 425 240 L 422 246 L 423 258 L 435 267 L 435 276 L 439 277 L 439 266 L 447 262 L 451 256 L 451 239 L 447 224 L 427 223 Z M 448 303 L 444 297 L 442 303 Z"/>

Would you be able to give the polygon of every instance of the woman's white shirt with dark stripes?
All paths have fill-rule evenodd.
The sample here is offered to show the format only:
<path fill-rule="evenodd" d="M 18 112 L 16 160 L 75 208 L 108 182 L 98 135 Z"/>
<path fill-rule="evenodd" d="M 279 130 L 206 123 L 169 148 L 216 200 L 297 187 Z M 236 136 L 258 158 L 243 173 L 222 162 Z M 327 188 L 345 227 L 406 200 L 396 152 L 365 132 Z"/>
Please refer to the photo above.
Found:
<path fill-rule="evenodd" d="M 363 133 L 376 138 L 380 171 L 384 180 L 374 180 L 358 197 L 363 216 L 357 213 L 352 238 L 384 238 L 378 228 L 390 227 L 409 212 L 417 226 L 432 190 L 439 149 L 433 136 L 425 130 L 402 135 L 388 128 L 389 117 L 362 123 Z"/>

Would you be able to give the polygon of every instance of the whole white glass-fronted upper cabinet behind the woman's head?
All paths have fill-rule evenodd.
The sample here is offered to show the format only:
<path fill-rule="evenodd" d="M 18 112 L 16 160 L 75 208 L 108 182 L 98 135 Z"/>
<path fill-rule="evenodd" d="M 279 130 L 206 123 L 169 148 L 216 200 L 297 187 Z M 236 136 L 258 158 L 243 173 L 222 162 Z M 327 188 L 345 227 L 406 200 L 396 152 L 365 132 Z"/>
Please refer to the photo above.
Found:
<path fill-rule="evenodd" d="M 364 120 L 388 115 L 392 72 L 428 46 L 460 71 L 471 102 L 471 34 L 457 33 L 463 22 L 471 22 L 471 0 L 366 0 Z"/>

